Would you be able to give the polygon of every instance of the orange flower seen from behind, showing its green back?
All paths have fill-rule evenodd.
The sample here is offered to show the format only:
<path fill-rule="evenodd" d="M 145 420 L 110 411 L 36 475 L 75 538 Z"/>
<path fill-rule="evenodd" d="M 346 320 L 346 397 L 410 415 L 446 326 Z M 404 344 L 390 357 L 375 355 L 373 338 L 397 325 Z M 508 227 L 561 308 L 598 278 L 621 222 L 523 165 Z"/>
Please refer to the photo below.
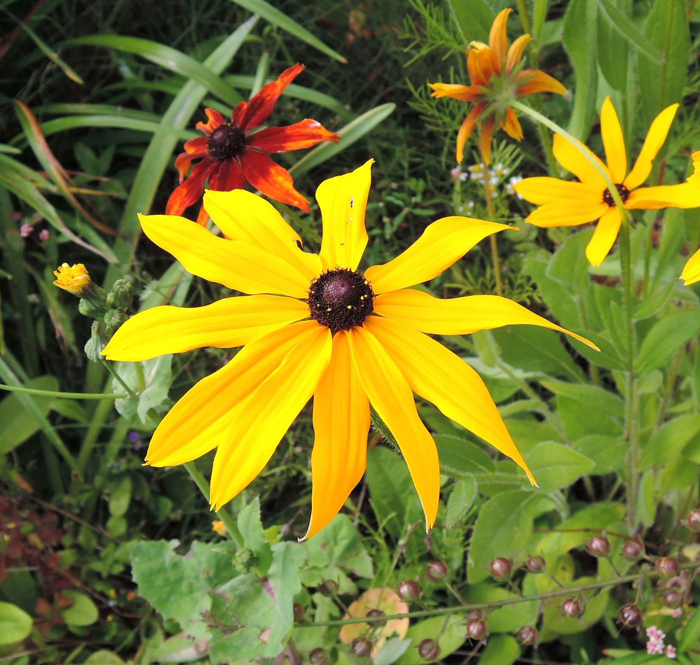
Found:
<path fill-rule="evenodd" d="M 472 85 L 429 84 L 433 88 L 433 97 L 451 97 L 474 103 L 457 134 L 457 164 L 461 163 L 464 145 L 477 125 L 479 148 L 486 164 L 491 163 L 491 136 L 497 126 L 508 136 L 521 141 L 523 131 L 515 110 L 508 104 L 509 99 L 534 92 L 566 92 L 558 80 L 540 69 L 520 71 L 520 60 L 532 37 L 524 34 L 508 48 L 505 24 L 509 14 L 510 9 L 504 9 L 496 16 L 489 34 L 489 45 L 478 41 L 470 43 L 467 69 Z"/>

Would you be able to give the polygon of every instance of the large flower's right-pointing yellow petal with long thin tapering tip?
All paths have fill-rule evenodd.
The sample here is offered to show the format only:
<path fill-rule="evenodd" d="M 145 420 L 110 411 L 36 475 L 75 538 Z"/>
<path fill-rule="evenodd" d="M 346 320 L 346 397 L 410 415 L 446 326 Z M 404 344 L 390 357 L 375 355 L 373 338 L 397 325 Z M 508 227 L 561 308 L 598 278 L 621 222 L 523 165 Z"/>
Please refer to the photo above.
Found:
<path fill-rule="evenodd" d="M 377 296 L 374 313 L 433 335 L 465 335 L 519 324 L 541 326 L 563 332 L 598 349 L 586 338 L 501 296 L 435 298 L 424 291 L 401 289 Z"/>

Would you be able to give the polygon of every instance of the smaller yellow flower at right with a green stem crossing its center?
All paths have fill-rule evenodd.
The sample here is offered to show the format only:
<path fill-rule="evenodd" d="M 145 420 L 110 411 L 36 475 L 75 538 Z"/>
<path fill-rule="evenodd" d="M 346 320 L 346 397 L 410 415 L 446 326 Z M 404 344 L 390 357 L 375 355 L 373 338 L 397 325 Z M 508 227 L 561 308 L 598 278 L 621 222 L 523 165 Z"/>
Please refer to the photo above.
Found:
<path fill-rule="evenodd" d="M 700 188 L 690 183 L 639 187 L 649 176 L 652 160 L 666 141 L 677 108 L 678 104 L 672 104 L 654 119 L 639 157 L 629 173 L 622 127 L 610 98 L 605 99 L 601 110 L 601 134 L 608 165 L 605 166 L 596 155 L 579 143 L 598 162 L 598 166 L 608 173 L 627 210 L 700 206 Z M 599 266 L 615 243 L 622 215 L 600 173 L 559 134 L 554 136 L 554 157 L 564 169 L 578 178 L 578 182 L 558 178 L 525 178 L 514 185 L 514 190 L 524 199 L 540 206 L 526 217 L 526 221 L 538 227 L 570 227 L 598 220 L 596 231 L 586 248 L 586 256 L 591 264 Z"/>

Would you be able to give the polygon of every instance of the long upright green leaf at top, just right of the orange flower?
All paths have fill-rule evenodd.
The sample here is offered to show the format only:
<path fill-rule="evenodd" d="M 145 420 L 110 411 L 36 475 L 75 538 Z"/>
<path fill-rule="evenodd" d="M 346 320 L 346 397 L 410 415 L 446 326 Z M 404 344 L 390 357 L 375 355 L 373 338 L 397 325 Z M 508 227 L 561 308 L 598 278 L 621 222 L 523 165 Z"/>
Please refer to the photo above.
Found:
<path fill-rule="evenodd" d="M 568 131 L 585 141 L 596 113 L 598 58 L 596 49 L 596 3 L 571 0 L 564 15 L 561 42 L 568 52 L 575 72 L 576 90 Z"/>

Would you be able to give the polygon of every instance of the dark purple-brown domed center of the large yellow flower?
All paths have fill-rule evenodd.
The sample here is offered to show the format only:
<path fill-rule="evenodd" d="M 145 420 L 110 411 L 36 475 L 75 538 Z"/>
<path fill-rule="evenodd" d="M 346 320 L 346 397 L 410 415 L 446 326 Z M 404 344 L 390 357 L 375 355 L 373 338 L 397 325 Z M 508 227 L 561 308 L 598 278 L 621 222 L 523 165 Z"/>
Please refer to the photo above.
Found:
<path fill-rule="evenodd" d="M 363 324 L 374 309 L 374 292 L 363 273 L 335 268 L 309 286 L 311 318 L 333 332 Z"/>

